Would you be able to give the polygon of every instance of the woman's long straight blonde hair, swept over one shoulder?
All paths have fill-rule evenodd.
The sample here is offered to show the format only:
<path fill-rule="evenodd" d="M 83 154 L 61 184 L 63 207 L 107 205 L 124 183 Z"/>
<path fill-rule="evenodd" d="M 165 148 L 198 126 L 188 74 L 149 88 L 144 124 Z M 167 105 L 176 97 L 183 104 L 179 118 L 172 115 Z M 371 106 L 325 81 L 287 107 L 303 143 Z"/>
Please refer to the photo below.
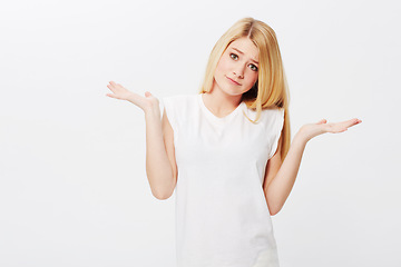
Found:
<path fill-rule="evenodd" d="M 261 117 L 262 109 L 284 109 L 284 125 L 282 130 L 282 160 L 286 157 L 291 145 L 291 129 L 288 103 L 290 93 L 285 78 L 283 61 L 278 42 L 274 30 L 265 22 L 253 18 L 243 18 L 235 22 L 214 46 L 207 66 L 205 78 L 199 93 L 209 92 L 213 87 L 214 73 L 224 51 L 234 40 L 247 37 L 258 49 L 258 77 L 255 85 L 242 96 L 242 101 L 250 109 L 256 110 L 256 123 Z"/>

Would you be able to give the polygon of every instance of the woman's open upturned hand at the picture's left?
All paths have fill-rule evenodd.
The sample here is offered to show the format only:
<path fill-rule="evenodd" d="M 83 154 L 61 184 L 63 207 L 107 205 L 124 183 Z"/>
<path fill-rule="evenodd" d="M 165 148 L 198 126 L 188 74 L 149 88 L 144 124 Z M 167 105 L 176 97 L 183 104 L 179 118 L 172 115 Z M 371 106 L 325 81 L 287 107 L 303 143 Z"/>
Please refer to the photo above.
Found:
<path fill-rule="evenodd" d="M 155 108 L 157 108 L 157 110 L 159 109 L 158 99 L 155 98 L 150 92 L 146 91 L 145 97 L 141 97 L 138 93 L 129 91 L 119 83 L 116 83 L 114 81 L 110 81 L 109 83 L 110 85 L 108 85 L 107 87 L 114 93 L 106 93 L 106 96 L 120 100 L 130 101 L 131 103 L 135 103 L 136 106 L 141 108 L 145 112 L 154 110 Z"/>

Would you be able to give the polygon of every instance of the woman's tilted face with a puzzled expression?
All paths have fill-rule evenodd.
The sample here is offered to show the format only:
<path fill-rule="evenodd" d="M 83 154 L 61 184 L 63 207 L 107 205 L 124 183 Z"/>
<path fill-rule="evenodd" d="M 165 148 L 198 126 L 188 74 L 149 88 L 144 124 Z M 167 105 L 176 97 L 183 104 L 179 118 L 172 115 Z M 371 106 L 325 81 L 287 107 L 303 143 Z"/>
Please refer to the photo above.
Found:
<path fill-rule="evenodd" d="M 258 50 L 247 37 L 236 39 L 222 55 L 214 75 L 214 88 L 231 96 L 248 91 L 257 80 Z"/>

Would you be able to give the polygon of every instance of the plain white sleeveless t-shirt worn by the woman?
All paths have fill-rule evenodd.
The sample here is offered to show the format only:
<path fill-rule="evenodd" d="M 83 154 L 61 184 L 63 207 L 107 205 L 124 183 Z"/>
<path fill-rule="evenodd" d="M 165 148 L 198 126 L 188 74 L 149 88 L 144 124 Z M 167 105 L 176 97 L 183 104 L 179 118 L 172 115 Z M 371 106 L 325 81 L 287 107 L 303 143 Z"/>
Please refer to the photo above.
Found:
<path fill-rule="evenodd" d="M 178 168 L 178 267 L 278 267 L 263 190 L 267 160 L 277 148 L 284 109 L 256 111 L 245 102 L 224 118 L 202 93 L 163 99 L 174 130 Z"/>

